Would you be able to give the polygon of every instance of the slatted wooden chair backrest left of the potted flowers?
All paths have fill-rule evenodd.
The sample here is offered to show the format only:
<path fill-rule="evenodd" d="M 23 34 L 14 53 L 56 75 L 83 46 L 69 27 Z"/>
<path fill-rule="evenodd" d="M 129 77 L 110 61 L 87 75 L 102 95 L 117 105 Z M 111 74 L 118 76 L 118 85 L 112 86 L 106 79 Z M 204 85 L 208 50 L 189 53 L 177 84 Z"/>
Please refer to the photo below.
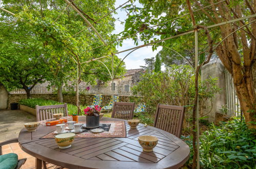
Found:
<path fill-rule="evenodd" d="M 63 113 L 63 116 L 68 116 L 67 103 L 58 104 L 58 105 L 43 105 L 43 106 L 36 105 L 35 110 L 36 110 L 37 121 L 54 118 L 53 114 L 56 114 L 56 113 Z"/>

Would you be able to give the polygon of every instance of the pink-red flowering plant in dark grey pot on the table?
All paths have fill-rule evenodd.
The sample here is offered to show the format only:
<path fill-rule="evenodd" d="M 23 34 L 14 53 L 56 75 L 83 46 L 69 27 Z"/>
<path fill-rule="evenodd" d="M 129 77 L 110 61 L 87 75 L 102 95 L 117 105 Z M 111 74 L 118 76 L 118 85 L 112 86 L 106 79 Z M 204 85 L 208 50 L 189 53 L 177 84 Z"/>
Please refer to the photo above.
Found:
<path fill-rule="evenodd" d="M 97 128 L 100 126 L 100 112 L 101 107 L 99 105 L 95 105 L 90 108 L 87 107 L 84 109 L 84 115 L 86 115 L 86 128 Z"/>

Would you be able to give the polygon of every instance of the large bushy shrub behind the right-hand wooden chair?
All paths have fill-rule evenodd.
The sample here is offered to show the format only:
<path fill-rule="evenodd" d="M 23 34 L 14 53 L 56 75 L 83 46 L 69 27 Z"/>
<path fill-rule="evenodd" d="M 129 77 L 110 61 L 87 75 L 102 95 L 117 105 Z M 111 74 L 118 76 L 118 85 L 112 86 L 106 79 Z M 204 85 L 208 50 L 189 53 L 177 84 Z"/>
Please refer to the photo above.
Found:
<path fill-rule="evenodd" d="M 217 79 L 212 78 L 200 81 L 200 110 L 206 99 L 211 99 L 215 93 L 220 92 L 216 81 Z M 165 72 L 145 73 L 141 76 L 141 81 L 132 87 L 132 92 L 134 95 L 142 96 L 137 98 L 137 102 L 146 103 L 149 114 L 155 113 L 158 103 L 185 106 L 185 119 L 189 121 L 195 95 L 194 69 L 188 65 L 172 65 Z"/>

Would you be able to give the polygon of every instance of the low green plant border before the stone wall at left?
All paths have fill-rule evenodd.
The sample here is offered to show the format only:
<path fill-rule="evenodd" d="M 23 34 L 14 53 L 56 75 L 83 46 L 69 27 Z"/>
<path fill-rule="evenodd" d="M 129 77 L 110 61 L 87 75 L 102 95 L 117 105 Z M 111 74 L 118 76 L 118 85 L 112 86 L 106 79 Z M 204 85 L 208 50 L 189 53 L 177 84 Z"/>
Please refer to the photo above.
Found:
<path fill-rule="evenodd" d="M 62 102 L 54 101 L 54 100 L 45 100 L 41 98 L 31 98 L 31 99 L 21 99 L 19 104 L 26 105 L 27 107 L 34 108 L 35 105 L 56 105 L 56 104 L 64 104 Z M 77 114 L 77 107 L 73 104 L 68 104 L 68 113 L 69 115 Z"/>

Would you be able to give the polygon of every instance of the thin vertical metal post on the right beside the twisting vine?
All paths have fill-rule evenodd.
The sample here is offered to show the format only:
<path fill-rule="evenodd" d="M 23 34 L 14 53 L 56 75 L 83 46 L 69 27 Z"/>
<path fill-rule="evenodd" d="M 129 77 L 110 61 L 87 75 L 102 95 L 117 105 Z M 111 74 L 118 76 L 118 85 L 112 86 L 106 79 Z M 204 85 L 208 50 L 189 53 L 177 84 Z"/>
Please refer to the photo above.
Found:
<path fill-rule="evenodd" d="M 195 71 L 198 68 L 198 30 L 194 31 L 194 51 L 195 51 Z M 200 150 L 199 150 L 199 98 L 196 103 L 196 149 L 198 150 L 197 156 L 197 166 L 196 168 L 200 168 Z"/>

